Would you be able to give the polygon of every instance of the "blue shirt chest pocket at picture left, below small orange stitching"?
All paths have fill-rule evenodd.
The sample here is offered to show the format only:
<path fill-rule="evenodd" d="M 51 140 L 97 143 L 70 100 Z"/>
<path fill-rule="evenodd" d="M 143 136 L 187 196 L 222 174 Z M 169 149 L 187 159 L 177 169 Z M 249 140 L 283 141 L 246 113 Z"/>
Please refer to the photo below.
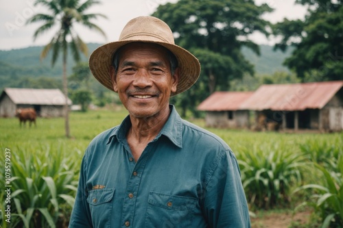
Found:
<path fill-rule="evenodd" d="M 93 227 L 110 227 L 115 188 L 103 188 L 88 192 L 87 202 Z"/>

